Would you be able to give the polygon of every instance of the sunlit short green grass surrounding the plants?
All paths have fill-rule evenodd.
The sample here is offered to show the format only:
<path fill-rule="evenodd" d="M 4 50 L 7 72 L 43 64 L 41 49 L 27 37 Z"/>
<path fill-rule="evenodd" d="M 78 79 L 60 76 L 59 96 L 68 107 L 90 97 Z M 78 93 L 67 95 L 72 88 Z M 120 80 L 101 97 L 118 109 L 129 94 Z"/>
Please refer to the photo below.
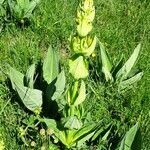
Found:
<path fill-rule="evenodd" d="M 0 33 L 0 133 L 6 143 L 6 149 L 19 149 L 17 128 L 22 118 L 27 117 L 26 111 L 13 100 L 12 93 L 6 86 L 6 69 L 11 65 L 24 72 L 29 64 L 37 63 L 43 58 L 45 51 L 51 44 L 58 47 L 63 58 L 68 53 L 68 38 L 74 32 L 74 16 L 77 2 L 75 0 L 45 0 L 36 9 L 33 22 L 29 27 L 20 29 L 15 25 L 6 26 Z M 94 33 L 103 42 L 116 62 L 123 54 L 127 59 L 135 46 L 141 42 L 142 51 L 137 66 L 144 71 L 138 86 L 126 95 L 130 107 L 122 108 L 123 116 L 127 116 L 133 123 L 141 114 L 143 149 L 150 149 L 149 136 L 149 108 L 150 108 L 150 2 L 148 0 L 95 0 L 96 19 Z M 96 60 L 93 59 L 93 62 Z M 89 93 L 86 105 L 92 105 L 95 120 L 106 116 L 107 103 L 118 106 L 112 93 L 106 98 L 104 87 L 89 78 Z M 109 89 L 108 89 L 109 92 Z M 110 101 L 109 101 L 110 100 Z M 114 101 L 117 101 L 116 103 Z M 131 124 L 132 124 L 131 121 Z M 22 147 L 22 149 L 24 149 Z"/>

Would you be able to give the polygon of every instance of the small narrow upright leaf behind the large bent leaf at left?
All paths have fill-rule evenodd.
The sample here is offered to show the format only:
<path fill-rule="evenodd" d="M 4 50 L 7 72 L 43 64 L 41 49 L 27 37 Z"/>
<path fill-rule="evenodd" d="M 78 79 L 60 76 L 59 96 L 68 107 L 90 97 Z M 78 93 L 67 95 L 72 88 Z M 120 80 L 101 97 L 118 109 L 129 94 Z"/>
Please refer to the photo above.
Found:
<path fill-rule="evenodd" d="M 33 89 L 34 85 L 34 73 L 35 73 L 35 64 L 32 64 L 26 72 L 25 79 L 27 86 Z"/>

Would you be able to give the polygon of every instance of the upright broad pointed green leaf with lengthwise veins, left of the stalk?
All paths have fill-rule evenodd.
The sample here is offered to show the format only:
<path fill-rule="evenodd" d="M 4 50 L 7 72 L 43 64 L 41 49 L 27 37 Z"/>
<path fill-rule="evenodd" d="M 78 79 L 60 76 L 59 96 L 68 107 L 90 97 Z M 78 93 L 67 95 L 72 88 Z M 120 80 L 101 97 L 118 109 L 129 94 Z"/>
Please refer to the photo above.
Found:
<path fill-rule="evenodd" d="M 50 84 L 59 73 L 58 54 L 50 46 L 43 63 L 43 78 Z"/>

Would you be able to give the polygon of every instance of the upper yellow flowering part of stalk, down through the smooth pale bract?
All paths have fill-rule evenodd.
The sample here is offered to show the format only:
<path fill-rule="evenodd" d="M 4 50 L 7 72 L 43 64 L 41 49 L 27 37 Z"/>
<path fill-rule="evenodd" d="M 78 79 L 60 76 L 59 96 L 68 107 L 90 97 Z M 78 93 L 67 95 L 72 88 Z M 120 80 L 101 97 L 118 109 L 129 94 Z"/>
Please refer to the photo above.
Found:
<path fill-rule="evenodd" d="M 91 36 L 95 7 L 93 0 L 81 0 L 77 8 L 76 33 L 71 37 L 72 57 L 69 59 L 69 72 L 75 80 L 88 76 L 87 58 L 96 46 L 96 36 Z"/>

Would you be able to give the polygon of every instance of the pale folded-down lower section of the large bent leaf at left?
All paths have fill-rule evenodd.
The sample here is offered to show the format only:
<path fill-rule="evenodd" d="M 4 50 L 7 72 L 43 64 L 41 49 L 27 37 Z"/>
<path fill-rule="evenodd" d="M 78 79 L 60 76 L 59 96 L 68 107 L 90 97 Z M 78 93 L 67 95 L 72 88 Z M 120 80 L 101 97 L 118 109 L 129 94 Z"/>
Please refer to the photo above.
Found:
<path fill-rule="evenodd" d="M 23 104 L 31 111 L 41 110 L 42 91 L 15 84 L 16 91 Z"/>

